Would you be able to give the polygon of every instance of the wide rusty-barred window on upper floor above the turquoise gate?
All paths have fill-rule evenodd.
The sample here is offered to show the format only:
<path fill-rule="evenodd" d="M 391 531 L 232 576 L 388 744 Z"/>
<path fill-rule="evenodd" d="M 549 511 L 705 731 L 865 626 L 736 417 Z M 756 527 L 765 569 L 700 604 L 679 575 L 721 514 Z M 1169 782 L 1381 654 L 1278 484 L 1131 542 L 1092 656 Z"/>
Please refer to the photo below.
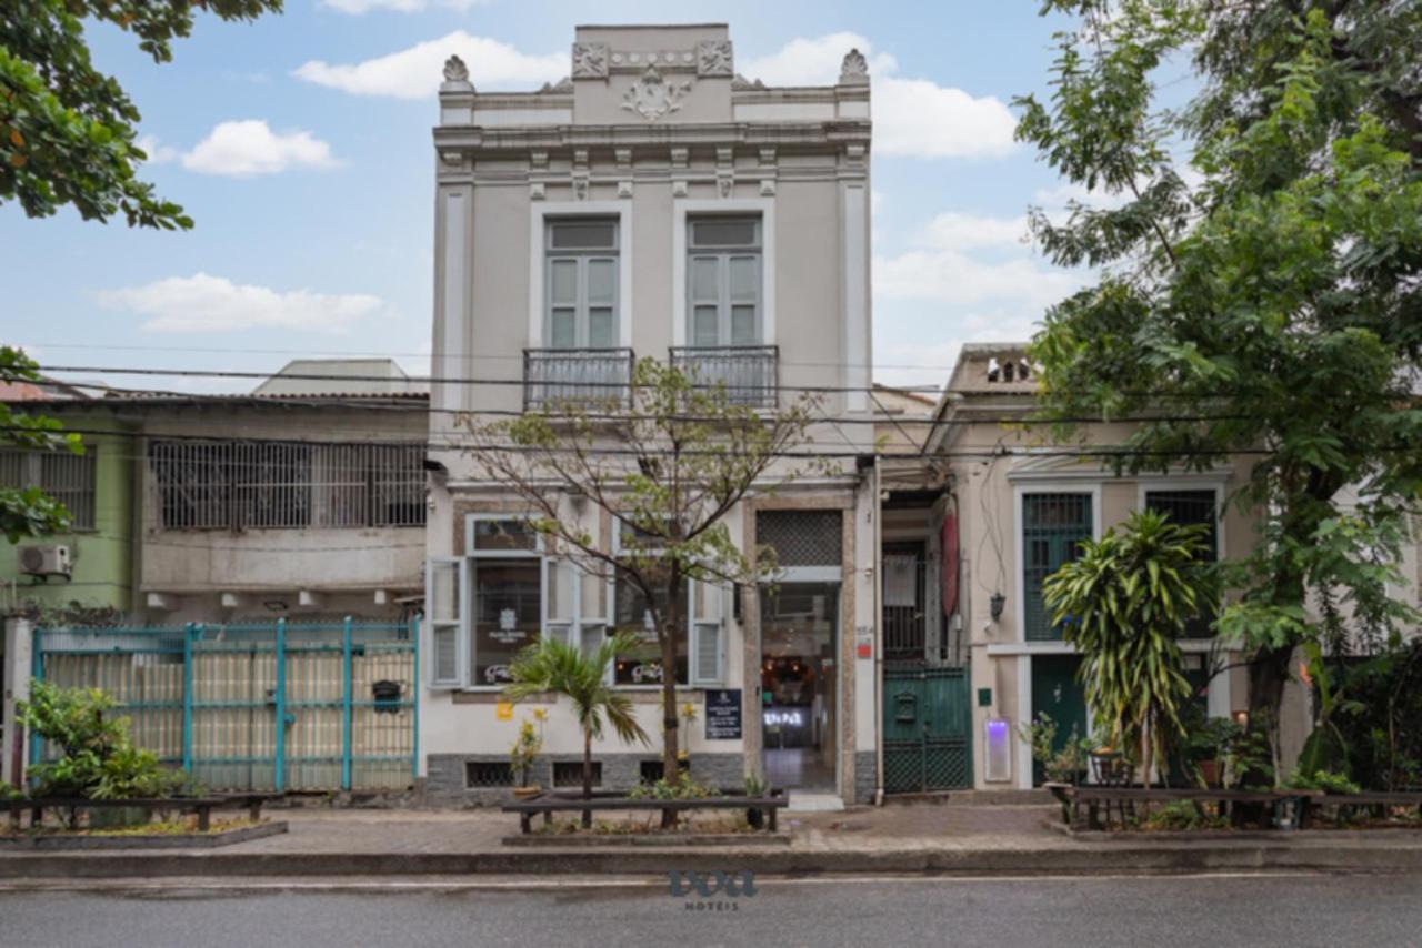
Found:
<path fill-rule="evenodd" d="M 424 445 L 154 441 L 165 530 L 415 527 Z"/>

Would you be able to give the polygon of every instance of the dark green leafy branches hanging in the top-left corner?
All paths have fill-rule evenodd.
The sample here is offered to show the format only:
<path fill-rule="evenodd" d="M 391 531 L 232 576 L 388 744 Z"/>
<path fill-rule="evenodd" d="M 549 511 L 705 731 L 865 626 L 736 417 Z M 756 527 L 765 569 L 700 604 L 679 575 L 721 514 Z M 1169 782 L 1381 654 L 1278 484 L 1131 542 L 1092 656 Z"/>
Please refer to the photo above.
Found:
<path fill-rule="evenodd" d="M 139 112 L 118 80 L 94 68 L 84 28 L 109 23 L 154 63 L 192 33 L 203 9 L 222 20 L 280 11 L 282 0 L 6 0 L 0 6 L 0 205 L 31 217 L 73 205 L 85 220 L 192 227 L 182 208 L 138 179 Z"/>

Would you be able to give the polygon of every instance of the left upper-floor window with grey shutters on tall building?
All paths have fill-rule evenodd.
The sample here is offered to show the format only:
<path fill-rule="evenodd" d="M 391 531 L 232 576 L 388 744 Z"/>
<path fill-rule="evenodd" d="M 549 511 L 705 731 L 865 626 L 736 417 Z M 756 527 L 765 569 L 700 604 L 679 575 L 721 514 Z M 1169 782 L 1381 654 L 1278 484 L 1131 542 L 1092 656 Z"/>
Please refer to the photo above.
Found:
<path fill-rule="evenodd" d="M 617 220 L 549 220 L 545 233 L 549 348 L 617 345 Z"/>

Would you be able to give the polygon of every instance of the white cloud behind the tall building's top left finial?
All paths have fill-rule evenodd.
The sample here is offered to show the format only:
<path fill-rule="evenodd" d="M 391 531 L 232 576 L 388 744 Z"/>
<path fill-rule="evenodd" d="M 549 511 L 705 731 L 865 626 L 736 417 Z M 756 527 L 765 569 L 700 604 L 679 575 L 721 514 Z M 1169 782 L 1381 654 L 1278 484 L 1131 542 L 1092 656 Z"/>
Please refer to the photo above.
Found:
<path fill-rule="evenodd" d="M 408 50 L 353 64 L 311 60 L 293 72 L 307 82 L 354 95 L 425 98 L 439 88 L 444 63 L 458 54 L 469 64 L 469 80 L 479 87 L 528 87 L 556 81 L 567 74 L 566 53 L 529 55 L 506 43 L 472 36 L 464 30 Z"/>

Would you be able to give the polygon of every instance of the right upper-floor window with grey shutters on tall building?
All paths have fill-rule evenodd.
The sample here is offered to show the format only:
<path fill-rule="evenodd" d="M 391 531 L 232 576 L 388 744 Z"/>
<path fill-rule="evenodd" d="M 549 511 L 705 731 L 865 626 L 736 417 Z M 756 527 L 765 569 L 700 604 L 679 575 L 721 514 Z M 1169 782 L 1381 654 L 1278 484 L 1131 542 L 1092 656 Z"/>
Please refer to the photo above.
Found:
<path fill-rule="evenodd" d="M 761 219 L 691 217 L 687 229 L 688 344 L 759 345 Z"/>

